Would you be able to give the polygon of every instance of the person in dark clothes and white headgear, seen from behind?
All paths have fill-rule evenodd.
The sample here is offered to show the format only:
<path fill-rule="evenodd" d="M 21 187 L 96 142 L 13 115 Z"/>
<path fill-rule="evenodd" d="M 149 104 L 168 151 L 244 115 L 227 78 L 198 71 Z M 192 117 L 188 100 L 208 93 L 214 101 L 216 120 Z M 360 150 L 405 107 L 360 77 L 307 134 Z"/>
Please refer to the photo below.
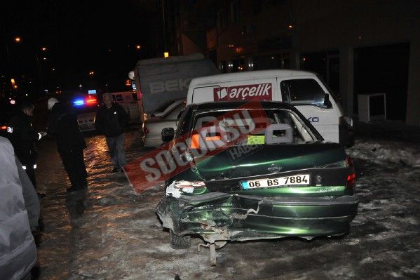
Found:
<path fill-rule="evenodd" d="M 50 110 L 50 115 L 48 116 L 47 133 L 55 136 L 58 153 L 72 183 L 72 187 L 69 187 L 67 192 L 86 189 L 88 173 L 86 173 L 83 159 L 86 142 L 81 135 L 77 116 L 55 98 L 48 99 L 48 110 Z"/>

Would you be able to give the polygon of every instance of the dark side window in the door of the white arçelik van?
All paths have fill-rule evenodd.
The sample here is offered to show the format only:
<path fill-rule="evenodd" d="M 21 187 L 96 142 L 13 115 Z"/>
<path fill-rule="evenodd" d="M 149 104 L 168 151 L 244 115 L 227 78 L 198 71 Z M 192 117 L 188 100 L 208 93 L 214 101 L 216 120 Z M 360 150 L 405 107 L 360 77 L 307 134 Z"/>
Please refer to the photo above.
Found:
<path fill-rule="evenodd" d="M 283 88 L 287 88 L 292 105 L 315 105 L 318 107 L 328 107 L 325 105 L 325 92 L 314 79 L 292 79 L 282 81 L 280 89 L 282 98 Z"/>

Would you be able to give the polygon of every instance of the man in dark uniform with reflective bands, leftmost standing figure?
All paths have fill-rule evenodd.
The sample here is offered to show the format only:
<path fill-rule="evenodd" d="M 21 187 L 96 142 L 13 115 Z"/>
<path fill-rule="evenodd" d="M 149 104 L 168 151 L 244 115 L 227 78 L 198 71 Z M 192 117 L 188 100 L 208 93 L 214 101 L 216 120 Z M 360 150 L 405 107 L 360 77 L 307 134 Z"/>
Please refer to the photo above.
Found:
<path fill-rule="evenodd" d="M 34 105 L 23 103 L 20 112 L 13 116 L 8 124 L 8 138 L 11 140 L 15 154 L 22 163 L 32 185 L 36 189 L 35 168 L 36 168 L 36 141 L 46 135 L 45 132 L 37 133 L 32 127 L 32 116 L 34 116 Z M 46 194 L 37 192 L 39 197 Z"/>

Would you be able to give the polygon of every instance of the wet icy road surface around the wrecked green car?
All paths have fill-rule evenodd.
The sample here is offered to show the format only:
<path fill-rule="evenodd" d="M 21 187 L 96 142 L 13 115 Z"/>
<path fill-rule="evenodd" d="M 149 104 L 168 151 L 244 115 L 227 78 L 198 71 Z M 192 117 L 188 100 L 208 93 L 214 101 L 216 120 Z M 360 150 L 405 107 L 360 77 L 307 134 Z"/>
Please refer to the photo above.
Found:
<path fill-rule="evenodd" d="M 104 138 L 86 137 L 89 187 L 67 196 L 67 175 L 52 140 L 39 147 L 43 232 L 36 235 L 37 279 L 419 279 L 420 147 L 380 133 L 359 135 L 348 149 L 358 173 L 359 213 L 343 238 L 228 243 L 210 267 L 201 239 L 172 250 L 155 206 L 164 190 L 136 196 L 111 174 Z M 398 133 L 398 131 L 396 132 Z M 126 133 L 128 159 L 142 154 L 136 129 Z"/>

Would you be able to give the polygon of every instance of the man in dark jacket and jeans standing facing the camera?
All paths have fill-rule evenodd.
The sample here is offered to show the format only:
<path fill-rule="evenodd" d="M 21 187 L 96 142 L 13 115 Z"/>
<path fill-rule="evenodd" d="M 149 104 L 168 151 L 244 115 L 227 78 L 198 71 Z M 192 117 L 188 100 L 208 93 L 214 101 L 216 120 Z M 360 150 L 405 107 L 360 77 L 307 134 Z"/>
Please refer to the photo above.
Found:
<path fill-rule="evenodd" d="M 123 172 L 126 165 L 126 154 L 124 152 L 124 128 L 128 123 L 128 115 L 123 107 L 112 102 L 111 93 L 102 95 L 102 105 L 95 117 L 97 131 L 105 135 L 111 161 L 114 168 L 111 172 Z"/>

